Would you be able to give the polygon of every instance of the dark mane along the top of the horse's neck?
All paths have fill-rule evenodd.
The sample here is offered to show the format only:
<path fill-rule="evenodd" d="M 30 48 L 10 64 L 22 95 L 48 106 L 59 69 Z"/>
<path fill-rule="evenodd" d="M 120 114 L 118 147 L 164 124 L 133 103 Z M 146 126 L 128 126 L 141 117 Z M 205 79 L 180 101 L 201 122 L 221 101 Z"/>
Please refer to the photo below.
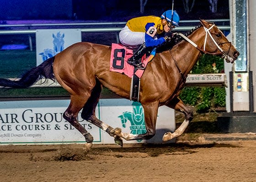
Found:
<path fill-rule="evenodd" d="M 195 30 L 197 30 L 198 28 L 200 28 L 202 25 L 197 25 L 195 28 L 193 28 L 192 30 L 187 31 L 184 35 L 185 36 L 189 36 L 191 35 Z M 168 35 L 167 35 L 168 36 Z M 172 36 L 172 35 L 171 35 Z M 163 52 L 166 50 L 170 50 L 174 45 L 178 44 L 179 42 L 181 42 L 181 40 L 184 40 L 180 35 L 176 35 L 174 34 L 173 38 L 168 41 L 165 42 L 164 44 L 162 44 L 161 46 L 159 46 L 157 48 L 157 52 Z"/>

